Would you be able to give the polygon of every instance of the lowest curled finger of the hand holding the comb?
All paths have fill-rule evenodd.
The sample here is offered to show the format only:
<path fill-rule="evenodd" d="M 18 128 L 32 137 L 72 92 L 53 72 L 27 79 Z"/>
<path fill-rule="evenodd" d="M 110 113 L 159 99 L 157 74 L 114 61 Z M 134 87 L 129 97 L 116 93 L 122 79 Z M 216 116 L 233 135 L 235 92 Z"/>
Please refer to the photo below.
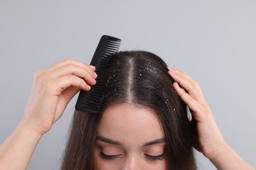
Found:
<path fill-rule="evenodd" d="M 70 86 L 75 86 L 84 91 L 89 91 L 91 86 L 89 86 L 82 78 L 75 75 L 66 75 L 53 80 L 50 86 L 57 87 L 55 95 L 60 95 L 66 88 Z"/>

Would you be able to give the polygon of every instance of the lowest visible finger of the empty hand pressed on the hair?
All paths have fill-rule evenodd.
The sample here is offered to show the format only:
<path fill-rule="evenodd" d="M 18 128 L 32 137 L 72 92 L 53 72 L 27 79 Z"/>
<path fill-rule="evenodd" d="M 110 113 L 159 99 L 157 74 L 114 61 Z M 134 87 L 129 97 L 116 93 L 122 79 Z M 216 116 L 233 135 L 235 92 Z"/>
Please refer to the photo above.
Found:
<path fill-rule="evenodd" d="M 182 101 L 184 101 L 184 103 L 186 103 L 186 105 L 189 107 L 194 118 L 196 118 L 196 120 L 200 120 L 200 117 L 202 116 L 200 115 L 200 110 L 202 109 L 200 103 L 198 103 L 198 101 L 196 101 L 188 93 L 182 90 L 177 82 L 173 83 L 173 87 L 181 97 Z"/>

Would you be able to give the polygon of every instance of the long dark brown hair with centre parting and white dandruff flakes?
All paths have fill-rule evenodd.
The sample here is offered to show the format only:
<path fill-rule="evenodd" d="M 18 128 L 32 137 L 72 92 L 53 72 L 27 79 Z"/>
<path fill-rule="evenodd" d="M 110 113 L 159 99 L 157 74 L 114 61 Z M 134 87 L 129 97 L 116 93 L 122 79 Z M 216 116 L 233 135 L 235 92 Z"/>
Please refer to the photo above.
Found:
<path fill-rule="evenodd" d="M 165 62 L 150 52 L 114 54 L 103 80 L 102 112 L 112 104 L 124 102 L 152 108 L 165 133 L 169 168 L 196 169 L 192 125 L 167 71 Z M 93 169 L 93 148 L 102 112 L 75 111 L 62 169 Z"/>

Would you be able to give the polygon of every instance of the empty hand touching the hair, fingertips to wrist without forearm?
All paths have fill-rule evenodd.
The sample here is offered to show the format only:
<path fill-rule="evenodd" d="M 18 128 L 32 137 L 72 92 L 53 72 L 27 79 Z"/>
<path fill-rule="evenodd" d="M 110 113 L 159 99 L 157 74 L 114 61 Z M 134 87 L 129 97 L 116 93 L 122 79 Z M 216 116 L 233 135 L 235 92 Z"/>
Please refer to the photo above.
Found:
<path fill-rule="evenodd" d="M 205 101 L 196 80 L 177 69 L 168 68 L 169 74 L 176 81 L 173 83 L 173 87 L 188 105 L 193 118 L 196 120 L 197 139 L 194 147 L 211 160 L 218 156 L 227 144 L 219 131 L 213 114 L 211 114 L 209 105 Z"/>

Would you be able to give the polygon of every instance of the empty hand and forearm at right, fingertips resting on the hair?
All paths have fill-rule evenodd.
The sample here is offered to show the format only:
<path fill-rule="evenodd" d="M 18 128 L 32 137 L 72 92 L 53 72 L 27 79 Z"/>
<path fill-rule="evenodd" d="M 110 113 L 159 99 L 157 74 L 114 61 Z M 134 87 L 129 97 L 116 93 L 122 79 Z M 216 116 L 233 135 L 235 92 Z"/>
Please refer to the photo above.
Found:
<path fill-rule="evenodd" d="M 217 169 L 253 169 L 224 141 L 196 80 L 177 69 L 168 69 L 176 81 L 173 87 L 188 105 L 194 118 L 192 121 L 196 124 L 194 148 L 202 152 Z"/>

